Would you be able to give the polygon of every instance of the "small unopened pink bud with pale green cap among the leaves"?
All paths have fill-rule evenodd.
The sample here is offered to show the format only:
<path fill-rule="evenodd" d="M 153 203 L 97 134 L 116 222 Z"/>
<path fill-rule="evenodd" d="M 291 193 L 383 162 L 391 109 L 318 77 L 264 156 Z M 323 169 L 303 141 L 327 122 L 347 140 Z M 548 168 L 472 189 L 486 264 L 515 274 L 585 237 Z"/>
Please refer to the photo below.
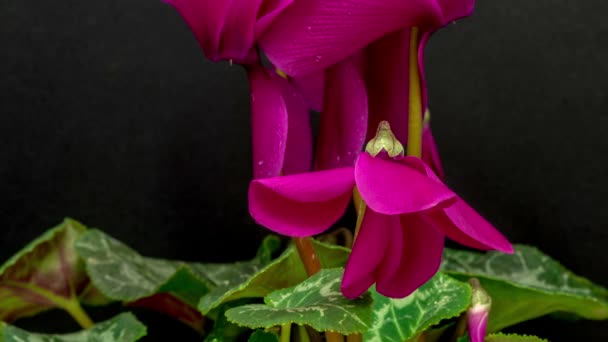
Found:
<path fill-rule="evenodd" d="M 471 342 L 483 342 L 488 325 L 488 315 L 492 307 L 492 298 L 476 278 L 471 278 L 469 284 L 473 287 L 471 306 L 467 312 L 467 325 Z"/>

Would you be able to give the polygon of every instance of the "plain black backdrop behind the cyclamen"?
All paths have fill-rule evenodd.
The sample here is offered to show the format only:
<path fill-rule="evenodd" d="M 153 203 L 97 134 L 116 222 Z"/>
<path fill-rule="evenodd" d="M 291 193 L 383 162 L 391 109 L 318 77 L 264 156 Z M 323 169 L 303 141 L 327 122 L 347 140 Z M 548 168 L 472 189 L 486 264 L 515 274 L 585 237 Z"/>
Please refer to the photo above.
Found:
<path fill-rule="evenodd" d="M 480 1 L 431 39 L 426 70 L 450 186 L 608 286 L 605 6 Z M 148 256 L 250 258 L 266 232 L 247 213 L 248 111 L 243 70 L 205 60 L 162 2 L 0 0 L 0 260 L 64 216 Z M 516 330 L 608 340 L 604 322 Z"/>

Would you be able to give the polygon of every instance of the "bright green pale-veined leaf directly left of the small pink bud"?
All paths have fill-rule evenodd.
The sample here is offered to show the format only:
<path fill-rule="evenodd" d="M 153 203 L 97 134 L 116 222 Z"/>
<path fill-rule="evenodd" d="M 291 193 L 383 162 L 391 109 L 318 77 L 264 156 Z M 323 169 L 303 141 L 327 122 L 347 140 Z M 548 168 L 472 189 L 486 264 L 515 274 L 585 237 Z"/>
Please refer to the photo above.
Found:
<path fill-rule="evenodd" d="M 374 321 L 365 341 L 406 341 L 440 321 L 456 317 L 471 303 L 471 287 L 438 273 L 403 299 L 372 292 Z"/>

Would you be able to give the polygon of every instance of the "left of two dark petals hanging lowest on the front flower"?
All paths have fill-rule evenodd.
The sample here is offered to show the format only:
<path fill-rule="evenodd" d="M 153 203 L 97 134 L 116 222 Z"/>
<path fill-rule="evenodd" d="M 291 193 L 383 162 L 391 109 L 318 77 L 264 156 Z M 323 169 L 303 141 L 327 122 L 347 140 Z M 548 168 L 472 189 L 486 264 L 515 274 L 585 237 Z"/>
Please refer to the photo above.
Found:
<path fill-rule="evenodd" d="M 391 234 L 399 228 L 398 216 L 379 214 L 370 208 L 365 210 L 342 278 L 344 297 L 357 298 L 376 281 L 378 268 L 387 251 L 391 250 Z"/>

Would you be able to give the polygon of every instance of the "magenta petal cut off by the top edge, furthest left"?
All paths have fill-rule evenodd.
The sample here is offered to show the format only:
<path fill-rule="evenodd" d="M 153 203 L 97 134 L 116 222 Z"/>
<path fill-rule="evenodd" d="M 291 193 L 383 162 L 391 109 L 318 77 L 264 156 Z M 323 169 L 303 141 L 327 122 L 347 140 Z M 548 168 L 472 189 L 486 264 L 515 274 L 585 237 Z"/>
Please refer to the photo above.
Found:
<path fill-rule="evenodd" d="M 184 18 L 205 56 L 238 63 L 255 58 L 254 29 L 264 0 L 165 0 Z"/>

